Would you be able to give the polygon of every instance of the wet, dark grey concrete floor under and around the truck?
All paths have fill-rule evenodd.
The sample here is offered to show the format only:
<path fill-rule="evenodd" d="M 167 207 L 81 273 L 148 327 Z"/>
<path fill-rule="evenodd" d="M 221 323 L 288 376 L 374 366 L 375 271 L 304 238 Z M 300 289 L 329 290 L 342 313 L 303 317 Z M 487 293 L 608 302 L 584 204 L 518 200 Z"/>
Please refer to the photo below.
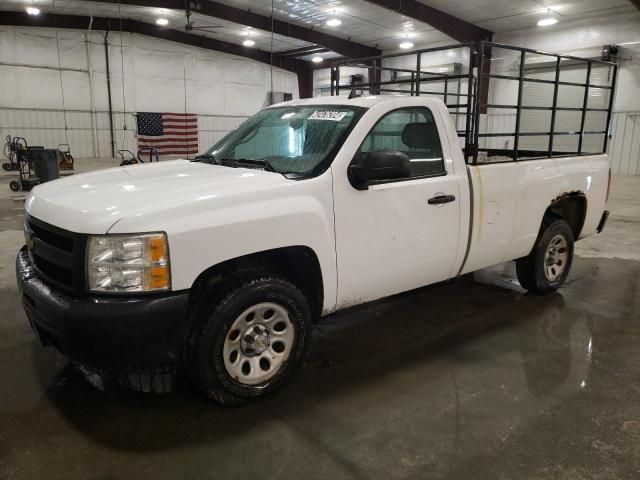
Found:
<path fill-rule="evenodd" d="M 21 202 L 0 198 L 2 479 L 640 478 L 640 177 L 614 179 L 559 293 L 505 264 L 327 318 L 293 380 L 239 409 L 185 382 L 101 391 L 38 346 Z"/>

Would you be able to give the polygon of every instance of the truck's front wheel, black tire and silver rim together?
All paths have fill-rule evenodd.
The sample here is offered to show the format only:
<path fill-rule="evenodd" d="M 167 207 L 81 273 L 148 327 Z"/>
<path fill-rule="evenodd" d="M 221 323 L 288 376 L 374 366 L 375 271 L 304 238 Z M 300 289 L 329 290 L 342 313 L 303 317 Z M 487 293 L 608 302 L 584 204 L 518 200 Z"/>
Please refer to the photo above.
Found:
<path fill-rule="evenodd" d="M 187 336 L 187 373 L 219 403 L 246 403 L 273 391 L 293 373 L 310 329 L 305 296 L 283 278 L 238 282 L 217 300 L 205 293 Z"/>

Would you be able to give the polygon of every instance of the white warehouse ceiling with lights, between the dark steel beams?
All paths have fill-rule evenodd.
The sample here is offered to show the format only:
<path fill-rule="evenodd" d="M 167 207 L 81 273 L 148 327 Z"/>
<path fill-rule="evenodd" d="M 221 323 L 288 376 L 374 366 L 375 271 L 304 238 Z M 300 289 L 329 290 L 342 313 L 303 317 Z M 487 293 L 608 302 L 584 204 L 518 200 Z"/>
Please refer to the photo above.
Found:
<path fill-rule="evenodd" d="M 136 3 L 136 2 L 133 2 Z M 264 17 L 271 16 L 271 0 L 218 0 L 236 9 L 250 11 Z M 444 33 L 427 23 L 410 18 L 393 9 L 402 6 L 399 0 L 274 0 L 274 18 L 340 39 L 350 40 L 366 47 L 381 50 L 396 50 L 403 40 L 414 44 L 453 42 Z M 406 2 L 405 2 L 406 3 Z M 415 2 L 417 3 L 417 1 Z M 538 20 L 554 17 L 561 28 L 562 22 L 598 17 L 611 13 L 636 11 L 629 0 L 569 0 L 551 2 L 547 0 L 421 0 L 421 3 L 455 16 L 462 21 L 490 32 L 507 32 L 535 27 Z M 142 4 L 156 5 L 153 1 Z M 158 5 L 162 5 L 161 0 Z M 113 19 L 133 19 L 154 24 L 158 18 L 166 18 L 163 28 L 185 30 L 187 18 L 184 10 L 160 9 L 153 6 L 120 5 L 105 0 L 3 0 L 2 9 L 24 11 L 35 5 L 42 13 L 60 15 L 97 16 Z M 384 8 L 385 5 L 389 8 Z M 337 26 L 327 21 L 337 19 Z M 252 48 L 266 52 L 283 52 L 312 47 L 314 43 L 287 35 L 273 35 L 267 30 L 248 27 L 209 15 L 194 12 L 190 23 L 194 35 L 206 36 L 241 45 L 249 39 L 255 42 Z M 116 27 L 117 28 L 117 24 Z M 333 51 L 301 53 L 298 58 L 310 60 L 313 56 L 332 58 L 340 56 Z"/>

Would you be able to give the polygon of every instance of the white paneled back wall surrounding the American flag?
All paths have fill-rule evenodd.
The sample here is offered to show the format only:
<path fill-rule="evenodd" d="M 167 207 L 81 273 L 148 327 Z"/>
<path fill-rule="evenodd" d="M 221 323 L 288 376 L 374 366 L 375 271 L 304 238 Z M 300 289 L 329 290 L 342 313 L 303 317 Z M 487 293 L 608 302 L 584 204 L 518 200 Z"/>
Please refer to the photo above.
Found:
<path fill-rule="evenodd" d="M 89 45 L 82 31 L 57 35 L 66 111 L 56 31 L 0 27 L 0 138 L 23 136 L 49 148 L 69 143 L 75 157 L 110 156 L 103 34 L 92 32 Z M 266 105 L 266 64 L 129 33 L 108 40 L 116 149 L 136 150 L 135 112 L 198 114 L 202 151 Z M 273 89 L 298 98 L 296 75 L 274 68 Z"/>

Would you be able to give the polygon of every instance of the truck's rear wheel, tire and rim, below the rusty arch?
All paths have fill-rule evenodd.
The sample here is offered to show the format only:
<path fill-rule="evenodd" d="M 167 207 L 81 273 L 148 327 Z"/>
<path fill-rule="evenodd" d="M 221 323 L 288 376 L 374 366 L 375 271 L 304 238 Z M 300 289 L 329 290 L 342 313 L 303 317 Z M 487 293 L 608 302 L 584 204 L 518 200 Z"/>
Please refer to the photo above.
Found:
<path fill-rule="evenodd" d="M 573 232 L 562 219 L 543 223 L 531 253 L 516 260 L 520 285 L 532 293 L 556 291 L 569 275 L 573 262 Z"/>

